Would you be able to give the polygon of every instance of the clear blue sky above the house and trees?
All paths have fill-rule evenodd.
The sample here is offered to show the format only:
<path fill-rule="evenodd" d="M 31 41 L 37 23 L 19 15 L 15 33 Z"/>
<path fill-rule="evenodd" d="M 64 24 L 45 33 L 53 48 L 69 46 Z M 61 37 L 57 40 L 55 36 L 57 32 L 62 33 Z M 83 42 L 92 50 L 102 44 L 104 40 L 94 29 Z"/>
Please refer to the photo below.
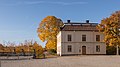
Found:
<path fill-rule="evenodd" d="M 35 40 L 40 21 L 54 15 L 63 21 L 98 22 L 120 10 L 120 0 L 0 0 L 0 43 Z"/>

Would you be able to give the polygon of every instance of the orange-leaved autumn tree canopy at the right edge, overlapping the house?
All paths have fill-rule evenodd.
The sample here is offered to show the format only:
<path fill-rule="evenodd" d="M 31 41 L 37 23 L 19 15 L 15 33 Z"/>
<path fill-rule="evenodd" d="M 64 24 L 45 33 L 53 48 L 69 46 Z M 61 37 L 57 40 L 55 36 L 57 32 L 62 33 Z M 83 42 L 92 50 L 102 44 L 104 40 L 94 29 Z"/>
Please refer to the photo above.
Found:
<path fill-rule="evenodd" d="M 98 29 L 105 34 L 104 41 L 110 46 L 120 46 L 120 11 L 101 20 Z"/>

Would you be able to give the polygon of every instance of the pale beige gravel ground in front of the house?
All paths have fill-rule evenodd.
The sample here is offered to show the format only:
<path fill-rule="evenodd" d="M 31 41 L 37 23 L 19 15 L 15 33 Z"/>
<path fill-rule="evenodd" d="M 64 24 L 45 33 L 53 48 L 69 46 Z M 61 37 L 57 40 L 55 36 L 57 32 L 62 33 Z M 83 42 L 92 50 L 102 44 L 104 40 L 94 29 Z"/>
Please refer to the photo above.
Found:
<path fill-rule="evenodd" d="M 120 67 L 120 56 L 64 56 L 48 59 L 2 60 L 1 67 Z"/>

